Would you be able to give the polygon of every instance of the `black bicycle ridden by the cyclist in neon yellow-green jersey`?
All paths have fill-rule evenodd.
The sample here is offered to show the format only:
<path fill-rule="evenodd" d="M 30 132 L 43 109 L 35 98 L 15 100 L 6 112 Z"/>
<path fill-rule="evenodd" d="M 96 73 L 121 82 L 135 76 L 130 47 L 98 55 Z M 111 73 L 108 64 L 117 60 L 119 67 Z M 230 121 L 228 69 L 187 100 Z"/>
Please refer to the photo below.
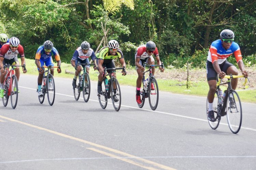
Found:
<path fill-rule="evenodd" d="M 100 102 L 100 106 L 104 109 L 106 108 L 107 104 L 108 104 L 108 99 L 111 98 L 112 100 L 112 103 L 113 103 L 113 106 L 114 106 L 114 109 L 115 111 L 119 111 L 120 109 L 120 106 L 121 106 L 121 90 L 120 90 L 120 85 L 117 81 L 117 79 L 114 77 L 115 75 L 115 70 L 123 70 L 125 73 L 125 68 L 107 68 L 104 70 L 104 72 L 106 71 L 110 71 L 110 73 L 108 74 L 105 74 L 105 77 L 104 77 L 104 80 L 102 83 L 102 93 L 101 94 L 98 94 L 97 90 L 96 90 L 96 93 L 97 93 L 97 96 L 98 96 L 98 99 L 99 99 L 99 102 Z M 106 77 L 110 75 L 110 79 L 109 79 L 109 89 L 107 90 L 106 89 Z"/>

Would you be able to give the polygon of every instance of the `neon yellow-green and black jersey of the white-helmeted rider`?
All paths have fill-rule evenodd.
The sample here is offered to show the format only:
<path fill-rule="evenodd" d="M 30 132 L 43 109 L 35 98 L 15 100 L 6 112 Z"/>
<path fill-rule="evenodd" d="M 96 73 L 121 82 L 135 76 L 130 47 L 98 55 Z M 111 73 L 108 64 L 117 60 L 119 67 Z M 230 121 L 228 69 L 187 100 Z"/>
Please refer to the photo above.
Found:
<path fill-rule="evenodd" d="M 109 52 L 109 48 L 107 47 L 102 47 L 100 51 L 97 52 L 96 57 L 99 60 L 113 60 L 114 58 L 124 58 L 122 51 L 118 48 L 117 52 L 115 55 L 111 55 Z"/>

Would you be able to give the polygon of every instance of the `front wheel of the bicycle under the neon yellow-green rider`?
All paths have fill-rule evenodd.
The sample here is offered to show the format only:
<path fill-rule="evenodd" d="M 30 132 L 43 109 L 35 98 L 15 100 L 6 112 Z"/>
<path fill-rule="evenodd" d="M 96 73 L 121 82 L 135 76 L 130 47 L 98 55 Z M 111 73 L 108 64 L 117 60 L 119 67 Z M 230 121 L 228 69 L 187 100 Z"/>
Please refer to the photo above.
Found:
<path fill-rule="evenodd" d="M 111 99 L 116 111 L 119 111 L 121 106 L 121 90 L 119 83 L 115 77 L 111 79 Z"/>

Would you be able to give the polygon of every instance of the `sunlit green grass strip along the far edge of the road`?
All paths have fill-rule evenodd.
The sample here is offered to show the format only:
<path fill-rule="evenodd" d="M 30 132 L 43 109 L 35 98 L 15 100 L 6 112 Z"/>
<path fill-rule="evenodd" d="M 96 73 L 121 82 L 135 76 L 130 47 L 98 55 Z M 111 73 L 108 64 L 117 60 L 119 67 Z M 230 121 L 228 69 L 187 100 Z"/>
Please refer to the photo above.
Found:
<path fill-rule="evenodd" d="M 54 63 L 57 66 L 57 63 Z M 38 75 L 37 67 L 34 63 L 34 60 L 30 60 L 26 58 L 26 68 L 28 72 L 26 74 Z M 61 63 L 61 73 L 57 73 L 57 69 L 54 71 L 55 77 L 60 78 L 70 78 L 70 87 L 72 86 L 72 79 L 74 74 L 66 74 L 65 70 L 70 72 L 74 72 L 74 68 L 70 63 Z M 117 71 L 117 79 L 120 84 L 134 86 L 134 94 L 135 94 L 135 86 L 137 81 L 137 73 L 134 71 L 135 68 L 129 67 L 127 69 L 128 74 L 126 76 L 122 76 L 121 71 Z M 172 69 L 166 69 L 166 72 L 171 72 Z M 205 75 L 203 75 L 205 76 Z M 98 71 L 90 68 L 90 79 L 92 81 L 98 81 Z M 187 89 L 186 81 L 178 81 L 172 79 L 160 79 L 157 78 L 157 83 L 159 86 L 159 90 L 173 92 L 177 94 L 185 94 L 185 95 L 194 95 L 194 96 L 204 96 L 205 101 L 208 94 L 208 83 L 207 81 L 197 81 L 197 82 L 189 82 L 189 89 Z M 35 80 L 36 82 L 37 80 Z M 225 88 L 224 88 L 225 89 Z M 242 102 L 251 102 L 256 103 L 256 89 L 237 89 L 239 97 Z M 191 96 L 192 97 L 192 96 Z"/>

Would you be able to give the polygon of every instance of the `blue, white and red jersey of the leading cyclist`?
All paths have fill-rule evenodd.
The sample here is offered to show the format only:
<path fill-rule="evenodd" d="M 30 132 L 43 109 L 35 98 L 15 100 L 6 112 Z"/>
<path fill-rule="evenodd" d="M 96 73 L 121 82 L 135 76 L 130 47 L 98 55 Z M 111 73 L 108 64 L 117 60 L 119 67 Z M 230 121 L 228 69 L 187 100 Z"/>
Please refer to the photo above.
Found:
<path fill-rule="evenodd" d="M 227 60 L 227 58 L 234 53 L 234 56 L 236 57 L 237 63 L 242 60 L 242 55 L 240 51 L 240 47 L 237 43 L 234 41 L 232 42 L 229 49 L 225 49 L 222 46 L 222 41 L 220 39 L 213 41 L 213 43 L 210 46 L 207 60 L 210 62 L 217 61 L 218 64 L 222 64 L 224 61 Z"/>

